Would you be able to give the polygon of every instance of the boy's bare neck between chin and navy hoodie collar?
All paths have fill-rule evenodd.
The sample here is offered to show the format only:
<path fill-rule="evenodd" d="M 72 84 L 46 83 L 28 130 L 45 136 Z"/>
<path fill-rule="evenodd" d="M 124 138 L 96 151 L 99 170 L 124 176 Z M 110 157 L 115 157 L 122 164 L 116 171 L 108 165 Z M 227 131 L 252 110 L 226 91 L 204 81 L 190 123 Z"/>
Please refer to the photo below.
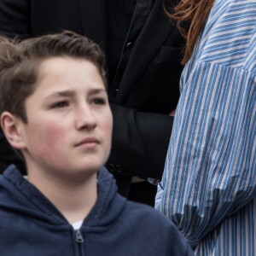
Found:
<path fill-rule="evenodd" d="M 28 181 L 51 201 L 70 224 L 86 218 L 96 203 L 96 173 L 86 177 L 84 182 L 75 183 L 70 180 L 65 182 L 63 178 L 38 176 L 33 172 L 28 175 Z"/>

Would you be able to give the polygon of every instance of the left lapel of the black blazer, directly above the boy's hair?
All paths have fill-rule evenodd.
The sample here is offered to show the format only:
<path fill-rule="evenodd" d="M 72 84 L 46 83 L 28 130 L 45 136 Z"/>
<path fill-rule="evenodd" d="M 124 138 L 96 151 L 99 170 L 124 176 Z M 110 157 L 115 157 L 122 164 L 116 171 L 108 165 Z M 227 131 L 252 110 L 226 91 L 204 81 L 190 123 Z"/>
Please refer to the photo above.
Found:
<path fill-rule="evenodd" d="M 108 14 L 106 0 L 79 0 L 84 35 L 103 49 L 108 44 Z"/>

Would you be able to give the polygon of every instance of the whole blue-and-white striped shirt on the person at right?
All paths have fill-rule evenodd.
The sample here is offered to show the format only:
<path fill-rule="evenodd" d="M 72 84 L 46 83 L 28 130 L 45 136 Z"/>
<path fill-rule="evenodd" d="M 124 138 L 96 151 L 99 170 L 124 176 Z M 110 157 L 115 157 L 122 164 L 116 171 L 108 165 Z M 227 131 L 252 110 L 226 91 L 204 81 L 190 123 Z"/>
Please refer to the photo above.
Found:
<path fill-rule="evenodd" d="M 216 0 L 183 70 L 156 209 L 195 255 L 256 255 L 256 0 Z"/>

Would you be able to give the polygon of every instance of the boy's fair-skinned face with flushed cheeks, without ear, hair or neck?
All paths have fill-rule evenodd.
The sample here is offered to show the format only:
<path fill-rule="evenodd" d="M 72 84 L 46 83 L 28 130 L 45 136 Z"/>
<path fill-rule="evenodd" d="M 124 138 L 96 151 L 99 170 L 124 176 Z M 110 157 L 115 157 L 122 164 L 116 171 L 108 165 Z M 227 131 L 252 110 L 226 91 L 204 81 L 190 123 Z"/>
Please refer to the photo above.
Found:
<path fill-rule="evenodd" d="M 102 78 L 90 61 L 44 61 L 37 89 L 25 106 L 28 122 L 21 124 L 21 150 L 28 173 L 37 168 L 70 176 L 96 172 L 105 164 L 113 119 Z"/>

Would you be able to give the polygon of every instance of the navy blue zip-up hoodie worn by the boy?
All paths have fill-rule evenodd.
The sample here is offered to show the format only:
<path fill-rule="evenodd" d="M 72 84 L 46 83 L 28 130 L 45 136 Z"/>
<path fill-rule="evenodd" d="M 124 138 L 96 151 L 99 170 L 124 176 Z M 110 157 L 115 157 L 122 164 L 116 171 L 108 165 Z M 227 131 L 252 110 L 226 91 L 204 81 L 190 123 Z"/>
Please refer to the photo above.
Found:
<path fill-rule="evenodd" d="M 0 176 L 1 256 L 162 256 L 193 255 L 170 220 L 153 208 L 117 194 L 105 168 L 98 176 L 98 198 L 80 230 L 15 166 Z"/>

